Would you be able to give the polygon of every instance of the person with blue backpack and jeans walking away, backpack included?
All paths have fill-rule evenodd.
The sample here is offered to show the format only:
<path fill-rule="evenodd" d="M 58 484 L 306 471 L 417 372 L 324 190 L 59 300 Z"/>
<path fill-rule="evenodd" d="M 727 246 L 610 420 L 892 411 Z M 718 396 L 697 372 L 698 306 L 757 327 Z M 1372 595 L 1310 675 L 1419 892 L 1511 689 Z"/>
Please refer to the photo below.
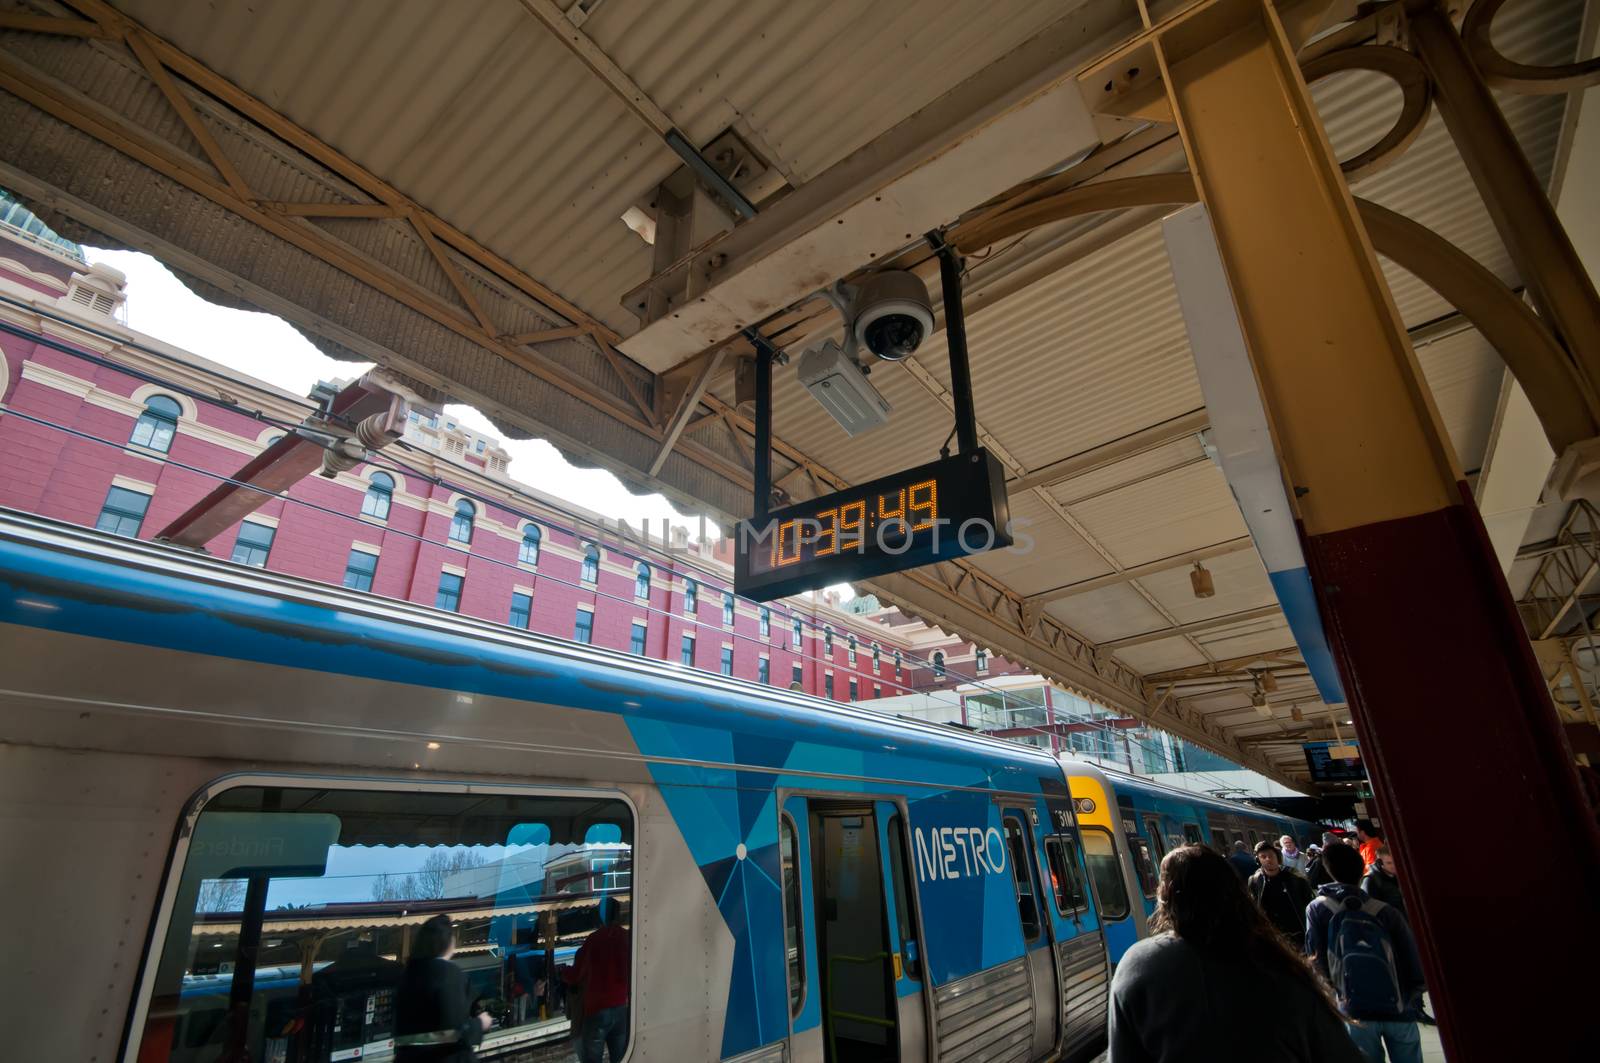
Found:
<path fill-rule="evenodd" d="M 1371 1063 L 1422 1063 L 1418 1007 L 1427 985 L 1416 938 L 1394 906 L 1362 892 L 1362 853 L 1322 855 L 1333 882 L 1306 908 L 1306 953 L 1333 986 L 1350 1039 Z"/>

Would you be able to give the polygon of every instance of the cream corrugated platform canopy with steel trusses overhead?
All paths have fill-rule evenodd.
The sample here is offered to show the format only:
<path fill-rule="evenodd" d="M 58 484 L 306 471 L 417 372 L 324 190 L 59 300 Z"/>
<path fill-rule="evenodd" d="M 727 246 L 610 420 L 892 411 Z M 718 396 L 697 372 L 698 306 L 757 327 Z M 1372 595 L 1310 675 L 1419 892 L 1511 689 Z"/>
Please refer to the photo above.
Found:
<path fill-rule="evenodd" d="M 938 296 L 923 234 L 949 229 L 981 440 L 1034 546 L 862 591 L 1306 786 L 1301 743 L 1349 717 L 1318 698 L 1205 451 L 1157 224 L 1192 200 L 1182 149 L 1155 72 L 1104 61 L 1146 32 L 1141 6 L 1190 3 L 0 0 L 0 186 L 64 235 L 149 251 L 208 298 L 730 520 L 752 507 L 741 330 L 795 346 L 837 323 L 811 293 L 891 263 Z M 1397 264 L 1416 256 L 1405 219 L 1480 282 L 1517 290 L 1517 271 L 1395 21 L 1278 8 L 1478 483 L 1510 378 L 1438 277 Z M 1570 62 L 1592 18 L 1510 3 L 1493 37 Z M 1555 189 L 1568 96 L 1501 102 Z M 893 413 L 854 439 L 779 368 L 778 487 L 803 499 L 934 458 L 946 357 L 938 333 L 878 365 Z"/>

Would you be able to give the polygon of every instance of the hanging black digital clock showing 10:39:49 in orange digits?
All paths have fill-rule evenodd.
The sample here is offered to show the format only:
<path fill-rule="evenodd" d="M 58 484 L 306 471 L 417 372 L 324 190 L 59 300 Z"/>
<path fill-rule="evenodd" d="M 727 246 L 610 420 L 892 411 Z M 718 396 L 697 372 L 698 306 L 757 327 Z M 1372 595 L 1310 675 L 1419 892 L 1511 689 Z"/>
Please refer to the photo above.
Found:
<path fill-rule="evenodd" d="M 741 522 L 734 589 L 766 602 L 1010 544 L 1005 471 L 976 450 Z"/>

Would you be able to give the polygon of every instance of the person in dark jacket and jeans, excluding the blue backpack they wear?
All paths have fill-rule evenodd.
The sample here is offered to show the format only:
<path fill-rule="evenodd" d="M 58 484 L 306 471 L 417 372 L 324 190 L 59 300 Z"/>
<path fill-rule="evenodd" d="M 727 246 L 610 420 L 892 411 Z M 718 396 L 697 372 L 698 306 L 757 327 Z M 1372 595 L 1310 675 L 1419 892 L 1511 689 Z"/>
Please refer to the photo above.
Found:
<path fill-rule="evenodd" d="M 1334 845 L 1323 860 L 1334 880 L 1317 890 L 1317 900 L 1306 909 L 1306 954 L 1323 978 L 1328 972 L 1328 935 L 1334 916 L 1346 908 L 1362 908 L 1362 901 L 1378 908 L 1374 917 L 1389 937 L 1394 956 L 1394 980 L 1400 991 L 1400 1012 L 1394 1018 L 1362 1018 L 1352 1021 L 1350 1037 L 1362 1047 L 1368 1063 L 1384 1063 L 1384 1050 L 1392 1063 L 1422 1063 L 1422 1036 L 1416 1020 L 1427 983 L 1422 980 L 1422 957 L 1405 916 L 1382 901 L 1373 901 L 1357 882 L 1362 880 L 1362 853 L 1354 845 Z M 1338 986 L 1336 986 L 1338 989 Z"/>

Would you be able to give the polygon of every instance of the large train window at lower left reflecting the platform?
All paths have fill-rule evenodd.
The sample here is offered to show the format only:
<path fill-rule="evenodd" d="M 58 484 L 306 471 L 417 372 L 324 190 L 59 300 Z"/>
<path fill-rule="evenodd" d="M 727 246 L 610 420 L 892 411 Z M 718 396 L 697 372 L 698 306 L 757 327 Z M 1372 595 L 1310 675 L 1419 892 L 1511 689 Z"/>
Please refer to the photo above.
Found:
<path fill-rule="evenodd" d="M 141 1060 L 389 1058 L 437 1036 L 446 962 L 470 1005 L 445 1021 L 482 1055 L 563 1045 L 574 985 L 627 1002 L 622 800 L 318 780 L 222 791 L 186 828 Z"/>

